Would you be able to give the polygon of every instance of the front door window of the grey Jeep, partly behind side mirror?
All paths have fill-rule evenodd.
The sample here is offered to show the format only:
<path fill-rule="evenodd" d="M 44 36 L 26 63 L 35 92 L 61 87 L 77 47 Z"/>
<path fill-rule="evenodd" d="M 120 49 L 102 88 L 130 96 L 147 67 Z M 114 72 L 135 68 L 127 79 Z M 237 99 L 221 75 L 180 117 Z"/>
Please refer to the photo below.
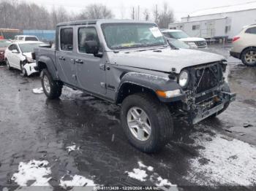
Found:
<path fill-rule="evenodd" d="M 86 41 L 96 41 L 99 43 L 96 28 L 79 28 L 78 29 L 78 50 L 86 53 Z"/>

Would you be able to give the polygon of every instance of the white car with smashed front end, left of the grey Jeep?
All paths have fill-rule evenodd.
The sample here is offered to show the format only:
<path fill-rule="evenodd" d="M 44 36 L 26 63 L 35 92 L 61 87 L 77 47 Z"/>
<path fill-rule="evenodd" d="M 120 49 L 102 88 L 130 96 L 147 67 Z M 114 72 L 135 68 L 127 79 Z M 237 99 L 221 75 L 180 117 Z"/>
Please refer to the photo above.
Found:
<path fill-rule="evenodd" d="M 35 47 L 44 44 L 43 42 L 24 41 L 14 42 L 5 50 L 4 59 L 8 69 L 19 69 L 23 76 L 30 76 L 37 72 L 34 67 L 37 66 L 36 61 L 32 59 L 32 52 Z"/>

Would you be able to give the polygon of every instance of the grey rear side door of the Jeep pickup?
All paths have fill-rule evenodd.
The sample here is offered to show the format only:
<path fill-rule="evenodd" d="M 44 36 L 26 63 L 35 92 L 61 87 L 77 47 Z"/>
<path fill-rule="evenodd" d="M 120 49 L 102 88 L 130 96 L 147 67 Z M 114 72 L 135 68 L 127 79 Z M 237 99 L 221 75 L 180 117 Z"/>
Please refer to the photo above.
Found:
<path fill-rule="evenodd" d="M 56 51 L 56 67 L 62 82 L 77 85 L 74 60 L 74 27 L 59 28 L 59 50 Z"/>

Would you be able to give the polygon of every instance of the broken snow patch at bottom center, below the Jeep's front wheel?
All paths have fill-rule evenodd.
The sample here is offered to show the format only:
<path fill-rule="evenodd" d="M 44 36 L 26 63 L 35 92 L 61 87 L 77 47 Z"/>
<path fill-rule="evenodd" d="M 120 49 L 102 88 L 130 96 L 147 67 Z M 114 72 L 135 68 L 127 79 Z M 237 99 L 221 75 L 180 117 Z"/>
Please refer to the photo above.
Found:
<path fill-rule="evenodd" d="M 162 190 L 178 191 L 176 184 L 171 184 L 167 179 L 162 179 L 159 174 L 154 172 L 152 166 L 144 165 L 141 161 L 138 162 L 138 165 L 139 168 L 134 168 L 132 172 L 126 171 L 125 173 L 132 179 L 137 179 L 140 182 L 150 181 Z"/>

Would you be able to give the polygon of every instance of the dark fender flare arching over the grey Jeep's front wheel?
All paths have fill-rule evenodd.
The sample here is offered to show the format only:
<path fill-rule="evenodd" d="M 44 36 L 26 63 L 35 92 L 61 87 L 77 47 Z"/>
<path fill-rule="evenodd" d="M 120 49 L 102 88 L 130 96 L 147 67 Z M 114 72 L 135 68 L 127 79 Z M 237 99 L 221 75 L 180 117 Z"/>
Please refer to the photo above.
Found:
<path fill-rule="evenodd" d="M 124 74 L 124 76 L 121 78 L 121 82 L 118 86 L 117 94 L 116 94 L 116 102 L 118 102 L 119 96 L 121 96 L 121 91 L 124 85 L 138 85 L 140 87 L 145 87 L 148 90 L 151 90 L 156 95 L 157 90 L 161 91 L 170 91 L 170 90 L 181 90 L 181 87 L 178 85 L 178 83 L 173 80 L 169 79 L 167 77 L 159 77 L 154 74 L 145 74 L 145 73 L 139 73 L 139 72 L 129 72 L 127 74 Z M 181 90 L 182 93 L 182 90 Z M 173 101 L 180 101 L 182 98 L 184 98 L 184 93 L 181 94 L 181 96 L 177 96 L 175 98 L 162 98 L 157 95 L 159 98 L 159 101 L 162 102 L 173 102 Z"/>

